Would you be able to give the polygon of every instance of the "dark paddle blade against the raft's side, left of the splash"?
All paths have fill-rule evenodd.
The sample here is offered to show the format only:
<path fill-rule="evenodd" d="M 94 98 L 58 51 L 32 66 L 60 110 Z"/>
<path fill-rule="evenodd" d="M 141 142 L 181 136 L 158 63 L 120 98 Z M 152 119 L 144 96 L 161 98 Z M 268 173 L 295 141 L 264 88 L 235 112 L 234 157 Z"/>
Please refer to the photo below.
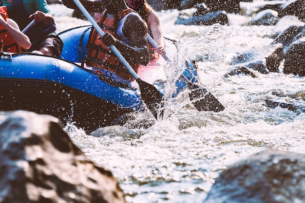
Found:
<path fill-rule="evenodd" d="M 141 98 L 152 112 L 153 116 L 157 119 L 157 109 L 163 107 L 163 96 L 162 94 L 151 84 L 144 82 L 140 78 L 136 79 L 139 84 Z M 160 116 L 162 117 L 162 112 Z"/>

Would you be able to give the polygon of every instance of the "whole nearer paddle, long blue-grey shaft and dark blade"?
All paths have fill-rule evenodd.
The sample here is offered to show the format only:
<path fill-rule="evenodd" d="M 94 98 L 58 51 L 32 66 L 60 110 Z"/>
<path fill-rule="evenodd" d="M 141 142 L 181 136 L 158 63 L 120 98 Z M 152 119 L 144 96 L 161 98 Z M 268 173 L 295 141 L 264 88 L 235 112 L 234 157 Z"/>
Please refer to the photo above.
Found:
<path fill-rule="evenodd" d="M 104 35 L 102 29 L 97 25 L 95 20 L 91 17 L 89 12 L 85 9 L 85 7 L 80 3 L 79 0 L 73 0 L 80 11 L 84 14 L 84 16 L 91 22 L 92 26 L 98 32 L 100 36 Z M 148 107 L 148 109 L 152 112 L 153 116 L 157 119 L 157 110 L 156 108 L 162 106 L 163 96 L 162 94 L 151 84 L 144 82 L 139 78 L 139 76 L 134 72 L 133 68 L 128 64 L 126 59 L 118 52 L 114 45 L 110 46 L 111 50 L 114 52 L 116 57 L 121 60 L 123 65 L 126 67 L 128 72 L 134 77 L 136 82 L 139 85 L 139 89 L 141 92 L 141 98 Z"/>

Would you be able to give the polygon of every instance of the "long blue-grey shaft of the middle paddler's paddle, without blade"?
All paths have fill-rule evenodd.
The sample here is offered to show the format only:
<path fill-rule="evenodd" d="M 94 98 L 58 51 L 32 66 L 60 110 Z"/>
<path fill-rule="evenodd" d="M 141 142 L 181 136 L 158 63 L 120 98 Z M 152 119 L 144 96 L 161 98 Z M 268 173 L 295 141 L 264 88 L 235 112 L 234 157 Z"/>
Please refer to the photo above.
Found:
<path fill-rule="evenodd" d="M 95 28 L 95 30 L 98 32 L 98 34 L 102 37 L 104 35 L 104 32 L 102 29 L 97 25 L 95 20 L 91 17 L 89 12 L 85 9 L 85 7 L 80 3 L 79 0 L 73 0 L 76 4 L 76 6 L 79 8 L 79 10 L 84 14 L 84 16 L 91 22 L 92 26 Z M 110 49 L 114 52 L 116 57 L 120 59 L 120 61 L 123 63 L 123 65 L 127 68 L 128 72 L 134 77 L 134 79 L 139 79 L 139 76 L 134 72 L 133 68 L 129 65 L 129 63 L 126 61 L 126 59 L 119 53 L 119 51 L 116 49 L 114 45 L 110 46 Z"/>

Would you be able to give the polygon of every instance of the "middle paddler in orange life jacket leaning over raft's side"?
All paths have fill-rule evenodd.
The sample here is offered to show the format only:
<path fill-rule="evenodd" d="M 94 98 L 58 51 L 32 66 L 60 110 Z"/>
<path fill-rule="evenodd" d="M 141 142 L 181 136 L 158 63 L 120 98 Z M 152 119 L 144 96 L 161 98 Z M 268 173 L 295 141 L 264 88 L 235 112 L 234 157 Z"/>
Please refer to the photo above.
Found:
<path fill-rule="evenodd" d="M 129 8 L 125 0 L 101 0 L 105 10 L 97 19 L 104 35 L 94 29 L 87 44 L 87 66 L 98 73 L 130 84 L 134 80 L 122 62 L 109 48 L 114 45 L 130 66 L 137 72 L 139 64 L 149 62 L 147 26 L 142 18 Z"/>

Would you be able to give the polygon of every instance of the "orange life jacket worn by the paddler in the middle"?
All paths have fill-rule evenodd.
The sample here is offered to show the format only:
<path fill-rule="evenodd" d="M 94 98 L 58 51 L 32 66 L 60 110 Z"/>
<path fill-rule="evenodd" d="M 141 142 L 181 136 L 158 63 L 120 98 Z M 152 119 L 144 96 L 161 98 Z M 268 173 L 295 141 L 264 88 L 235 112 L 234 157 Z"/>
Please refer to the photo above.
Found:
<path fill-rule="evenodd" d="M 133 12 L 132 9 L 126 9 L 121 11 L 117 19 L 113 15 L 107 16 L 106 10 L 102 13 L 102 15 L 97 19 L 97 24 L 101 27 L 103 32 L 108 32 L 113 35 L 115 38 L 120 40 L 124 40 L 117 35 L 117 22 L 119 22 L 125 15 Z M 95 29 L 91 33 L 87 44 L 87 56 L 85 58 L 85 62 L 87 66 L 93 67 L 96 69 L 104 69 L 107 71 L 111 71 L 123 79 L 133 81 L 134 78 L 128 72 L 128 70 L 124 67 L 123 63 L 117 58 L 114 52 L 107 47 L 102 40 L 97 39 L 100 35 L 97 33 Z M 126 40 L 125 40 L 126 42 Z M 128 43 L 128 42 L 126 42 Z M 136 64 L 131 61 L 127 61 L 129 65 L 133 68 L 133 70 L 137 73 L 139 64 Z"/>

